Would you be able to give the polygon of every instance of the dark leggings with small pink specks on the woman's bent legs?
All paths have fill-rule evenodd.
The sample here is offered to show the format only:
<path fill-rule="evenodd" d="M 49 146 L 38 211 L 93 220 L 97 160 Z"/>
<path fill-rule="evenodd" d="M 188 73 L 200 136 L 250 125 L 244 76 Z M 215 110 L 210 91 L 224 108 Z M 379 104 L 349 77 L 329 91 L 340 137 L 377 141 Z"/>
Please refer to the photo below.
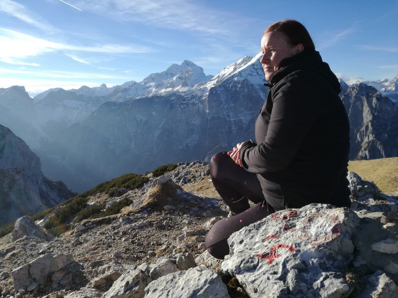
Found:
<path fill-rule="evenodd" d="M 217 259 L 224 259 L 229 254 L 227 240 L 232 233 L 275 210 L 265 200 L 257 175 L 237 165 L 226 152 L 213 156 L 210 175 L 217 192 L 234 214 L 216 222 L 205 239 L 207 251 Z M 250 207 L 248 200 L 256 205 Z"/>

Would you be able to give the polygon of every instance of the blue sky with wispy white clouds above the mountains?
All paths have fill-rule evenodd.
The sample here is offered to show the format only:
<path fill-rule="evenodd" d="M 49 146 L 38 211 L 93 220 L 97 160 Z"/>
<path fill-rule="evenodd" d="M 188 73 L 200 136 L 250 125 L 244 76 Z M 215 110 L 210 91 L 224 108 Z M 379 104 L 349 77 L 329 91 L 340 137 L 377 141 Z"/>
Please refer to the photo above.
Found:
<path fill-rule="evenodd" d="M 185 59 L 217 74 L 302 22 L 348 82 L 398 74 L 398 1 L 0 0 L 0 87 L 114 86 Z M 79 8 L 80 10 L 78 10 Z"/>

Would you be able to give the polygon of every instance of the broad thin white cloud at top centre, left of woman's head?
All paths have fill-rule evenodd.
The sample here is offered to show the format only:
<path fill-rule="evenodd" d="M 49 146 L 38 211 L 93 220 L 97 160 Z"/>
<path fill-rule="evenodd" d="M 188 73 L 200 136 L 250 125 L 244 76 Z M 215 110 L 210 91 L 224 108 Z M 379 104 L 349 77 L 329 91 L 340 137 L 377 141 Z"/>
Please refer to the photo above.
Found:
<path fill-rule="evenodd" d="M 119 21 L 204 35 L 228 35 L 232 32 L 225 18 L 204 12 L 201 6 L 186 0 L 75 0 L 74 4 Z"/>

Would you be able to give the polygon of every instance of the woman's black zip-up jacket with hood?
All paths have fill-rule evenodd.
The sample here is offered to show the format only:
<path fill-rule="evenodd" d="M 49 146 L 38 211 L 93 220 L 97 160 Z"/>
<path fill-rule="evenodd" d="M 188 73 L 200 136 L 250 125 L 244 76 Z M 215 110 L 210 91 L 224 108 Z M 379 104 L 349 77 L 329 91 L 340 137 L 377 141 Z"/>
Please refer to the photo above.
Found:
<path fill-rule="evenodd" d="M 256 143 L 242 143 L 244 168 L 257 173 L 275 208 L 310 203 L 349 207 L 349 122 L 340 84 L 317 51 L 283 59 L 256 121 Z"/>

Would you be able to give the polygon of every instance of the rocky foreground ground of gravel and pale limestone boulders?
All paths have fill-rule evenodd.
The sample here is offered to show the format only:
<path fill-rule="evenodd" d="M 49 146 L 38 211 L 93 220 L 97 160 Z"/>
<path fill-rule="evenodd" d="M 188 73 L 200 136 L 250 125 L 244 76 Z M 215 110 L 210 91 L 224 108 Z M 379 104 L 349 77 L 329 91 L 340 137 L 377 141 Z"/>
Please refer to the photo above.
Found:
<path fill-rule="evenodd" d="M 123 197 L 141 202 L 170 178 L 201 185 L 210 178 L 202 175 L 208 167 L 181 164 L 166 173 L 169 178 L 152 179 Z M 395 297 L 398 226 L 380 219 L 385 211 L 398 212 L 398 198 L 386 200 L 355 173 L 349 180 L 351 208 L 314 204 L 276 212 L 234 233 L 224 261 L 211 257 L 203 241 L 211 225 L 227 216 L 225 206 L 219 198 L 181 189 L 168 205 L 84 220 L 51 242 L 24 236 L 0 244 L 0 290 L 26 297 L 207 298 L 224 295 L 226 287 L 221 297 Z M 49 260 L 57 253 L 71 254 L 75 262 L 47 272 L 43 267 L 53 267 Z M 17 284 L 8 276 L 12 271 Z"/>

